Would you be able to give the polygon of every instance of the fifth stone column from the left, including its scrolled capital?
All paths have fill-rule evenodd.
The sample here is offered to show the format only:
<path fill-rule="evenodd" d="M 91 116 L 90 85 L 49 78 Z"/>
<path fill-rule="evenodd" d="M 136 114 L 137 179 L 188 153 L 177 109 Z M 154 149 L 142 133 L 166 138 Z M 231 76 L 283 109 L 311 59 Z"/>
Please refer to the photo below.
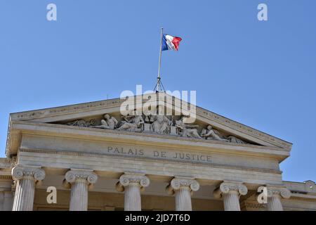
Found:
<path fill-rule="evenodd" d="M 240 211 L 239 197 L 247 192 L 241 182 L 224 181 L 213 194 L 215 198 L 223 198 L 225 211 Z"/>

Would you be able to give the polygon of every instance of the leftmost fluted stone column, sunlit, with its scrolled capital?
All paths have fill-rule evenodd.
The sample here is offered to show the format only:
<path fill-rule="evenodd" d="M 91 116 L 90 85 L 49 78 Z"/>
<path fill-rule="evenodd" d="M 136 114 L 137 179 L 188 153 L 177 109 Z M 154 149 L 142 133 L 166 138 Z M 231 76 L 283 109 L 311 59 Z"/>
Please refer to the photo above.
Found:
<path fill-rule="evenodd" d="M 45 171 L 40 167 L 15 166 L 12 169 L 15 180 L 15 197 L 13 211 L 32 211 L 34 203 L 35 184 L 45 178 Z"/>

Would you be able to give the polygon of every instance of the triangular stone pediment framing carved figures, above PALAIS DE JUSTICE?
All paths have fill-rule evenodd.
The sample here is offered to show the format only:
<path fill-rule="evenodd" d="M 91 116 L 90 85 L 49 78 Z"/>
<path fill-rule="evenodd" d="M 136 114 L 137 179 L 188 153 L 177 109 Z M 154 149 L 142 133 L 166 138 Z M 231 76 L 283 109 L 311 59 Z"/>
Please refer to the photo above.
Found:
<path fill-rule="evenodd" d="M 126 99 L 110 99 L 91 103 L 81 103 L 77 105 L 67 105 L 57 108 L 47 108 L 43 110 L 33 110 L 22 113 L 12 113 L 11 122 L 25 121 L 48 124 L 62 124 L 70 127 L 83 127 L 87 129 L 98 129 L 103 131 L 131 131 L 144 134 L 158 134 L 165 136 L 176 136 L 190 139 L 204 139 L 209 141 L 222 141 L 223 143 L 233 143 L 241 145 L 274 146 L 284 150 L 291 150 L 291 143 L 277 139 L 274 136 L 247 127 L 228 118 L 212 113 L 209 110 L 196 107 L 195 122 L 187 122 L 186 117 L 178 108 L 176 101 L 166 102 L 171 98 L 164 94 L 166 98 L 157 101 L 157 105 L 164 105 L 164 115 L 133 115 L 134 110 L 130 110 L 128 115 L 122 115 L 121 105 Z M 137 96 L 141 104 L 150 103 L 150 98 L 146 95 Z M 140 97 L 140 98 L 139 98 Z M 138 102 L 139 103 L 139 102 Z M 187 105 L 185 101 L 181 104 Z M 190 105 L 190 104 L 188 104 Z M 193 107 L 193 105 L 190 105 Z M 140 108 L 136 104 L 135 108 Z M 166 112 L 169 112 L 166 113 Z M 171 114 L 170 114 L 171 112 Z M 126 114 L 126 113 L 125 113 Z M 185 113 L 185 115 L 187 115 Z"/>

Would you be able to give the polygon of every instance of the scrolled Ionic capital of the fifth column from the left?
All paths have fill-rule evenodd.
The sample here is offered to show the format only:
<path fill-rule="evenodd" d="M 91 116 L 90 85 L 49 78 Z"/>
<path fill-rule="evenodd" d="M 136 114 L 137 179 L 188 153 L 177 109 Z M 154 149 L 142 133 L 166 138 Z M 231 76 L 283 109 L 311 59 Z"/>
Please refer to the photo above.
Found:
<path fill-rule="evenodd" d="M 237 195 L 246 195 L 248 188 L 241 182 L 224 181 L 218 188 L 215 189 L 213 195 L 215 198 L 221 198 L 222 194 L 236 193 Z"/>

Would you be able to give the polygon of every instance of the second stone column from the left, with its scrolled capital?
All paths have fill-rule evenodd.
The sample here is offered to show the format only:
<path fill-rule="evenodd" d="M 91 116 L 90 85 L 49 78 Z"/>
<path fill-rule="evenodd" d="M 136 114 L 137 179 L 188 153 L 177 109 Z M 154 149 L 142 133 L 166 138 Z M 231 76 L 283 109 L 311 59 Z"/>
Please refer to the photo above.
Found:
<path fill-rule="evenodd" d="M 65 174 L 64 186 L 71 187 L 70 211 L 88 210 L 88 188 L 98 180 L 98 175 L 91 169 L 71 169 Z"/>

